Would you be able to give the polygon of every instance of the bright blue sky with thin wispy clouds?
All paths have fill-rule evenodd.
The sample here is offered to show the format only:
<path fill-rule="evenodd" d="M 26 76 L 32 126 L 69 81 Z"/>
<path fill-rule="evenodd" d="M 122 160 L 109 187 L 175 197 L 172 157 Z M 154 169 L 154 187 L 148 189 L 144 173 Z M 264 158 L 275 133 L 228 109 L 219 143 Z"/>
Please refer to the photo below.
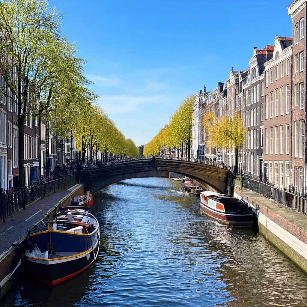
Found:
<path fill-rule="evenodd" d="M 212 90 L 253 47 L 292 36 L 291 0 L 49 0 L 87 60 L 99 104 L 126 138 L 145 144 L 181 101 Z"/>

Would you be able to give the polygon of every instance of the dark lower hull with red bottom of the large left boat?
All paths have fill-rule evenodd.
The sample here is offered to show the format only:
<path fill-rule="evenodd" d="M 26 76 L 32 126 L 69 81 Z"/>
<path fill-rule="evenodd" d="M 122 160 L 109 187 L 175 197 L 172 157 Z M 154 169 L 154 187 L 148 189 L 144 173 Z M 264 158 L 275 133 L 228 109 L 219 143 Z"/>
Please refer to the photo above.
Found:
<path fill-rule="evenodd" d="M 48 286 L 64 282 L 94 264 L 98 256 L 100 240 L 95 247 L 66 259 L 38 260 L 25 256 L 25 266 L 28 274 Z"/>

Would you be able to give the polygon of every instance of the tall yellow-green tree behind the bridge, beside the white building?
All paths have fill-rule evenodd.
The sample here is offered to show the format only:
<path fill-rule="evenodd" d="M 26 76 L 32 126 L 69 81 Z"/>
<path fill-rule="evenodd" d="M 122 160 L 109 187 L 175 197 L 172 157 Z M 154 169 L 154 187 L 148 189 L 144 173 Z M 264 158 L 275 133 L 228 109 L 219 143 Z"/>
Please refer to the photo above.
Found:
<path fill-rule="evenodd" d="M 188 96 L 173 114 L 169 123 L 169 133 L 173 145 L 181 145 L 181 157 L 183 157 L 183 144 L 187 146 L 188 158 L 190 158 L 191 154 L 194 100 L 195 95 Z"/>

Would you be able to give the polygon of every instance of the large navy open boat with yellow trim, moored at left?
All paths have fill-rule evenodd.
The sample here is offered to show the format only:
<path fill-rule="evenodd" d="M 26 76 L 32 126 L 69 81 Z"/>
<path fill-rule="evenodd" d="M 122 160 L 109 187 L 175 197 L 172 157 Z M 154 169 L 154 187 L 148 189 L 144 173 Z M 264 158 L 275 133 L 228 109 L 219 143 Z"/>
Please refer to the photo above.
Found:
<path fill-rule="evenodd" d="M 90 267 L 98 256 L 98 220 L 83 209 L 63 208 L 54 221 L 41 221 L 28 234 L 24 258 L 28 273 L 49 286 Z"/>

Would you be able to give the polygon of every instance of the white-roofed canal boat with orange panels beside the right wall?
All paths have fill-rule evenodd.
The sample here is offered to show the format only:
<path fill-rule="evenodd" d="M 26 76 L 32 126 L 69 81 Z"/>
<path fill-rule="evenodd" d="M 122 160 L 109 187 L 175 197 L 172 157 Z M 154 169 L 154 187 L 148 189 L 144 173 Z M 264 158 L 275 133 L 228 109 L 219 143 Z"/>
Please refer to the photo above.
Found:
<path fill-rule="evenodd" d="M 234 197 L 204 191 L 200 193 L 200 211 L 222 224 L 251 227 L 253 212 L 247 204 Z"/>

